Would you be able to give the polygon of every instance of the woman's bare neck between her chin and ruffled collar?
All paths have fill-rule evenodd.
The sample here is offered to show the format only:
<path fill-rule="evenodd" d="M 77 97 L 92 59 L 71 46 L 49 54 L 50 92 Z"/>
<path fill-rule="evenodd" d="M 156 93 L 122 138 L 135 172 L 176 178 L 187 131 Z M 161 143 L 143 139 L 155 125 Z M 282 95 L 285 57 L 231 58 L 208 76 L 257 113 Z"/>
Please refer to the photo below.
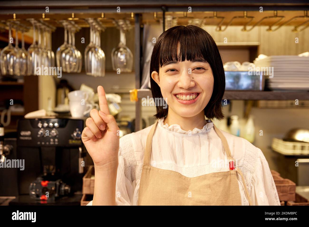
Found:
<path fill-rule="evenodd" d="M 193 116 L 193 117 L 181 117 L 180 115 L 173 112 L 171 109 L 168 110 L 167 117 L 163 120 L 164 124 L 173 125 L 177 124 L 182 130 L 189 131 L 194 128 L 202 129 L 205 126 L 205 115 L 204 111 Z"/>

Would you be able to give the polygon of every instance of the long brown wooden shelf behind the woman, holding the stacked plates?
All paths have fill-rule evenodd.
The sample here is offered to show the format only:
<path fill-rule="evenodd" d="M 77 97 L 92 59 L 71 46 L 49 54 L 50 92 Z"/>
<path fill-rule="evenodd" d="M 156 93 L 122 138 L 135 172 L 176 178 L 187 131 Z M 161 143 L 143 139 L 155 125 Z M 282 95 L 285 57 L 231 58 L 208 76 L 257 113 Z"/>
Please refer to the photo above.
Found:
<path fill-rule="evenodd" d="M 138 98 L 152 97 L 151 90 L 138 91 Z M 223 99 L 230 100 L 309 100 L 307 91 L 228 91 Z"/>

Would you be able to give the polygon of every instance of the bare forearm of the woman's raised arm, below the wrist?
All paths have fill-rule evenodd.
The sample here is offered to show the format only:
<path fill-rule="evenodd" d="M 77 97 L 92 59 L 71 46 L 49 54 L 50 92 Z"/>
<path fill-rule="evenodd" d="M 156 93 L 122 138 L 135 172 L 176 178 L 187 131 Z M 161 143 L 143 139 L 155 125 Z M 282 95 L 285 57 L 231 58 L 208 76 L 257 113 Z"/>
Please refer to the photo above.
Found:
<path fill-rule="evenodd" d="M 95 167 L 95 189 L 92 205 L 116 205 L 118 162 L 108 167 Z"/>

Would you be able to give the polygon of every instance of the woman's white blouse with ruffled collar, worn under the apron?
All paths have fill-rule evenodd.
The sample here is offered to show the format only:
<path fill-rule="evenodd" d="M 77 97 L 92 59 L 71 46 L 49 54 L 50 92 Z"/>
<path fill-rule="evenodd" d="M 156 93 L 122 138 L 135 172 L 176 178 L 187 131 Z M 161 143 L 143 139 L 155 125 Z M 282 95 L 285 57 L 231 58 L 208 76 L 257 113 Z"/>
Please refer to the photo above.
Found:
<path fill-rule="evenodd" d="M 153 136 L 150 165 L 197 177 L 213 172 L 229 171 L 221 139 L 213 122 L 206 120 L 203 129 L 184 131 L 179 125 L 163 124 L 159 119 Z M 137 205 L 146 138 L 152 126 L 120 138 L 116 179 L 116 204 Z M 222 130 L 221 130 L 222 131 Z M 280 205 L 276 186 L 262 151 L 246 139 L 225 131 L 231 155 L 243 172 L 253 205 Z M 223 161 L 224 162 L 224 161 Z M 220 164 L 221 163 L 221 164 Z M 249 205 L 241 176 L 237 174 L 242 205 Z M 92 205 L 92 201 L 87 205 Z"/>

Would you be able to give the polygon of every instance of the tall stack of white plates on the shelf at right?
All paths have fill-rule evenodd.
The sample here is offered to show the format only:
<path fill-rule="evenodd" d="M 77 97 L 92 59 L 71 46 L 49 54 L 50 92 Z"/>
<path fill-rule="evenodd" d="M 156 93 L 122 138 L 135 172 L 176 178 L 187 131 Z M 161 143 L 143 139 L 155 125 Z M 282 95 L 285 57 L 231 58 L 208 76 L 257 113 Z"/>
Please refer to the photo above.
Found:
<path fill-rule="evenodd" d="M 309 90 L 309 57 L 268 56 L 254 63 L 256 67 L 273 67 L 272 76 L 265 76 L 272 90 Z"/>

